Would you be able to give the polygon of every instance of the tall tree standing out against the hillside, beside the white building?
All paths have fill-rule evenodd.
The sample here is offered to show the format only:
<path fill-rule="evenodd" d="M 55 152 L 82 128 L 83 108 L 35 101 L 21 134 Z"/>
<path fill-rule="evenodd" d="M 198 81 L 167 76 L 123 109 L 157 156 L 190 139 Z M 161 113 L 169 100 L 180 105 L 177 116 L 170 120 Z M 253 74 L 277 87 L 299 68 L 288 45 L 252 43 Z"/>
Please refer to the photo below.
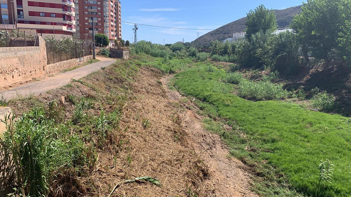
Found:
<path fill-rule="evenodd" d="M 251 39 L 251 35 L 259 31 L 264 33 L 277 29 L 277 19 L 273 10 L 266 9 L 264 5 L 258 6 L 256 9 L 250 10 L 246 18 L 246 38 Z"/>

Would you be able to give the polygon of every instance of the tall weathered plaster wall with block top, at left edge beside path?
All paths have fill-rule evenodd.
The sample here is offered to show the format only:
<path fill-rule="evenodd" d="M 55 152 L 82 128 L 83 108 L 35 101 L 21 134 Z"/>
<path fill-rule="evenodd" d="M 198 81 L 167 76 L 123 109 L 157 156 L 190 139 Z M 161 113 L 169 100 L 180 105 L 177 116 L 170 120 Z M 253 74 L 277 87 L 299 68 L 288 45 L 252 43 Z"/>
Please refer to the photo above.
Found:
<path fill-rule="evenodd" d="M 45 41 L 41 37 L 39 47 L 1 47 L 0 87 L 45 75 L 46 62 Z"/>

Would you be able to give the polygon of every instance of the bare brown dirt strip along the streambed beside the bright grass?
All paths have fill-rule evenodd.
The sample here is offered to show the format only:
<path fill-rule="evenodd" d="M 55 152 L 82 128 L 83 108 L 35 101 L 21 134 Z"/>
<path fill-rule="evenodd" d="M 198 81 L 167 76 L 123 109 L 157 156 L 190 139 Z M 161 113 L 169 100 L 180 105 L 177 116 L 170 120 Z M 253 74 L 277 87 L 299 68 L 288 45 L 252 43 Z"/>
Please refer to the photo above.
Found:
<path fill-rule="evenodd" d="M 167 88 L 168 80 L 172 77 L 166 76 L 160 81 L 163 83 L 168 98 L 172 101 L 179 101 L 181 96 L 178 91 Z M 180 111 L 180 116 L 184 128 L 188 133 L 190 143 L 192 143 L 197 154 L 210 167 L 213 175 L 213 186 L 217 196 L 255 196 L 250 191 L 250 174 L 243 169 L 247 168 L 243 163 L 235 158 L 228 157 L 229 151 L 226 149 L 220 137 L 205 131 L 202 126 L 202 118 L 192 110 Z"/>

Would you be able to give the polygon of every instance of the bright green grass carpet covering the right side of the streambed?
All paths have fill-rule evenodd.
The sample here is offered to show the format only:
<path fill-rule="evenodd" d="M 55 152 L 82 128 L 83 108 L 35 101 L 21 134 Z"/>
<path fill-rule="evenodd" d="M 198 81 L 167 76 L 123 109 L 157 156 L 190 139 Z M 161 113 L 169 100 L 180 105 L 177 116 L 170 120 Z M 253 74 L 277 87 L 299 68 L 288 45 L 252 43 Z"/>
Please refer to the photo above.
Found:
<path fill-rule="evenodd" d="M 174 86 L 183 94 L 203 101 L 197 101 L 201 113 L 226 119 L 226 124 L 233 126 L 222 138 L 231 155 L 254 166 L 256 174 L 267 181 L 254 184 L 261 195 L 293 196 L 285 195 L 284 190 L 267 189 L 284 184 L 307 196 L 350 196 L 348 118 L 309 111 L 282 101 L 253 102 L 230 93 L 214 92 L 211 84 L 219 81 L 225 72 L 206 72 L 204 64 L 195 65 L 176 74 Z M 335 164 L 335 171 L 332 184 L 324 184 L 323 192 L 317 194 L 321 159 Z M 272 180 L 277 183 L 269 182 Z"/>

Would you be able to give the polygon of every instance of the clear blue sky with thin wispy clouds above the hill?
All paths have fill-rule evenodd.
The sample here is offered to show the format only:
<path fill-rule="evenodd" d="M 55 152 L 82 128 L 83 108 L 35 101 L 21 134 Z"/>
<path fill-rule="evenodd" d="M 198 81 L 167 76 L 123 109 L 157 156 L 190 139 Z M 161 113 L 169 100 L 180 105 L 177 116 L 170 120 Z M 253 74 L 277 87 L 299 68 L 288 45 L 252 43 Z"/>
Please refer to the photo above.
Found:
<path fill-rule="evenodd" d="M 122 21 L 164 27 L 216 29 L 263 4 L 269 9 L 301 5 L 303 0 L 120 0 Z M 133 25 L 122 23 L 122 39 L 134 40 Z M 191 42 L 210 30 L 176 30 L 139 25 L 138 40 L 163 44 Z M 132 41 L 131 41 L 132 42 Z"/>

